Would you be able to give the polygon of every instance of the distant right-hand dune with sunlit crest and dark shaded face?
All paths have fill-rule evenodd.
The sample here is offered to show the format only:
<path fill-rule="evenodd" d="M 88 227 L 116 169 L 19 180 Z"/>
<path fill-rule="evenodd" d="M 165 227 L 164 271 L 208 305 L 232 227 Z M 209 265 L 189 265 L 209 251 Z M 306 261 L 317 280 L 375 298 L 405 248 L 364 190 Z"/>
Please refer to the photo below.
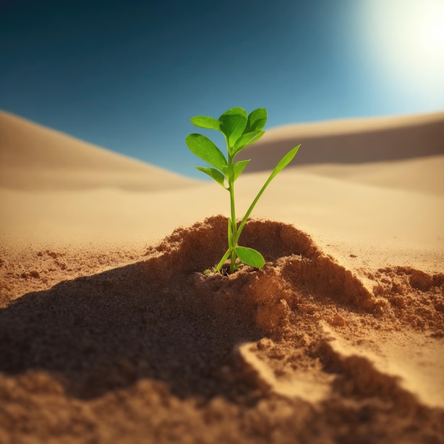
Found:
<path fill-rule="evenodd" d="M 246 171 L 269 170 L 295 145 L 292 165 L 357 164 L 444 155 L 444 113 L 359 118 L 272 128 L 240 157 L 257 159 Z"/>

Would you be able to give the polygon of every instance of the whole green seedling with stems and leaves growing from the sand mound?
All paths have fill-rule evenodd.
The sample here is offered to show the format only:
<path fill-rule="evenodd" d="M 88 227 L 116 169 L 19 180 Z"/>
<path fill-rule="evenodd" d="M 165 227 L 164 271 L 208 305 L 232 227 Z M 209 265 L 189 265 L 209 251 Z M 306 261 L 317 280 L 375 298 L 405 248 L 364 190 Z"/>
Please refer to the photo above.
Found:
<path fill-rule="evenodd" d="M 248 114 L 245 109 L 235 106 L 234 108 L 228 109 L 228 111 L 223 113 L 218 119 L 208 116 L 195 116 L 191 119 L 191 122 L 193 125 L 199 126 L 199 128 L 220 131 L 225 138 L 227 146 L 227 156 L 225 156 L 223 152 L 204 135 L 193 133 L 189 134 L 186 139 L 189 150 L 211 165 L 211 167 L 196 167 L 196 169 L 208 174 L 211 179 L 214 179 L 221 187 L 230 193 L 231 217 L 228 218 L 228 249 L 218 262 L 214 271 L 220 272 L 228 258 L 230 258 L 230 273 L 238 270 L 243 264 L 262 268 L 265 265 L 264 257 L 253 248 L 238 245 L 240 234 L 243 231 L 250 213 L 255 208 L 260 196 L 262 196 L 262 193 L 277 173 L 292 161 L 300 145 L 287 152 L 276 167 L 274 167 L 272 174 L 270 174 L 270 177 L 260 189 L 260 192 L 257 193 L 250 208 L 238 225 L 235 212 L 234 183 L 251 159 L 235 162 L 234 158 L 246 146 L 251 145 L 264 135 L 265 131 L 262 128 L 264 128 L 267 122 L 267 110 L 265 108 L 258 108 Z"/>

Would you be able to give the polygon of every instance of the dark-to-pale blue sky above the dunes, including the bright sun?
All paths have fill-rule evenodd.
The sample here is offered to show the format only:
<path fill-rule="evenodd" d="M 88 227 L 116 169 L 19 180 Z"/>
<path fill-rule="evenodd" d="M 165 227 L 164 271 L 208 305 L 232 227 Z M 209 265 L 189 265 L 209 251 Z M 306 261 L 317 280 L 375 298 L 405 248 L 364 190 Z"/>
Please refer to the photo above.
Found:
<path fill-rule="evenodd" d="M 198 114 L 444 110 L 444 0 L 0 5 L 0 109 L 184 175 Z"/>

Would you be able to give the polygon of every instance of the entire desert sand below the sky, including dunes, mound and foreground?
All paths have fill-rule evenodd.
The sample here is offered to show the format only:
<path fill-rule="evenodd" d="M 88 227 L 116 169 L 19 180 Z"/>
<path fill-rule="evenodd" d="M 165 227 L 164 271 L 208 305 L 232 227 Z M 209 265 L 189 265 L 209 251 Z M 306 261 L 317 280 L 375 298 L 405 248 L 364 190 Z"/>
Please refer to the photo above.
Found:
<path fill-rule="evenodd" d="M 444 443 L 444 113 L 272 128 L 239 215 L 298 143 L 206 275 L 218 184 L 0 113 L 0 443 Z"/>

